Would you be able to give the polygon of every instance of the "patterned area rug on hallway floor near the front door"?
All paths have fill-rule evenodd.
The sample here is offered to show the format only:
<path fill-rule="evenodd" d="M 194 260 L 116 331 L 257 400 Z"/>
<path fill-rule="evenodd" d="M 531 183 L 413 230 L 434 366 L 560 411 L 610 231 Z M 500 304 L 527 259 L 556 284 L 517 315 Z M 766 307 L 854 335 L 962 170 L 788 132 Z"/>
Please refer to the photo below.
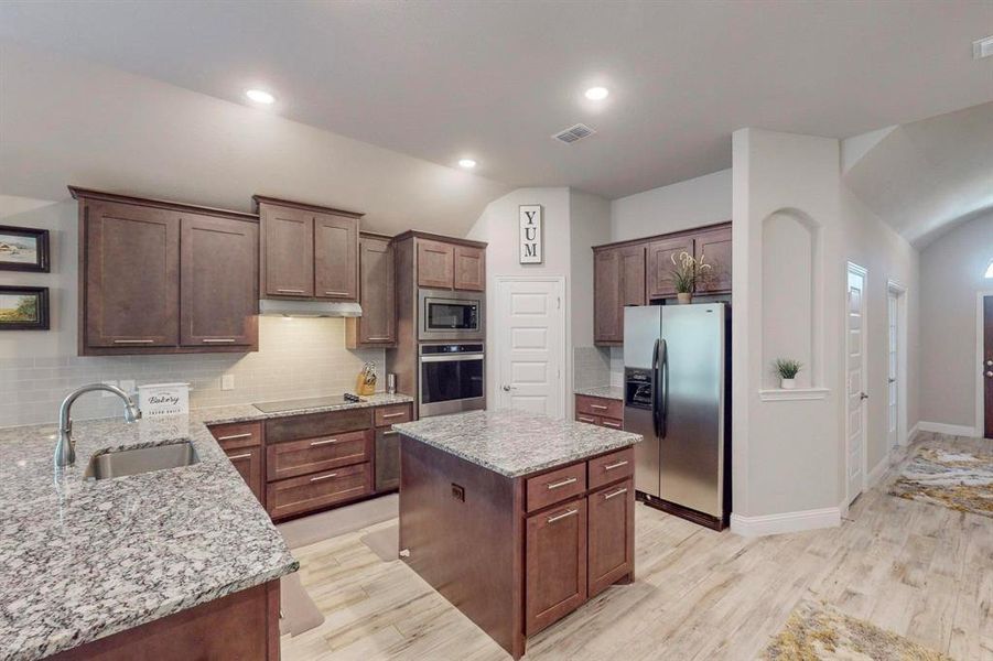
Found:
<path fill-rule="evenodd" d="M 993 455 L 921 447 L 889 492 L 993 518 Z"/>

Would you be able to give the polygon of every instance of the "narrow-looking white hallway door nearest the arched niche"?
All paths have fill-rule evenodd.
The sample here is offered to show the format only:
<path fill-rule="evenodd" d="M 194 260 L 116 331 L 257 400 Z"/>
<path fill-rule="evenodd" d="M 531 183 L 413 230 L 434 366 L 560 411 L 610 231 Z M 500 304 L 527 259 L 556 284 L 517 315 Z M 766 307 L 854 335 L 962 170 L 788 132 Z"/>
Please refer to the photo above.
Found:
<path fill-rule="evenodd" d="M 865 278 L 866 270 L 849 263 L 845 301 L 845 438 L 848 500 L 851 503 L 865 485 Z"/>

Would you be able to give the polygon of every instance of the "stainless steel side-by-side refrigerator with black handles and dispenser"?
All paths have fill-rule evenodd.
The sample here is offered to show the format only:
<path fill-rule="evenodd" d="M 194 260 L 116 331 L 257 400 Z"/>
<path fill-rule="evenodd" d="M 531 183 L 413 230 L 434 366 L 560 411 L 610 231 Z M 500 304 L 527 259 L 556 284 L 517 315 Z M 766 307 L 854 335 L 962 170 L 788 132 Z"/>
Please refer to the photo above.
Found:
<path fill-rule="evenodd" d="M 724 303 L 624 310 L 624 429 L 645 436 L 635 489 L 717 530 L 730 510 L 726 321 Z"/>

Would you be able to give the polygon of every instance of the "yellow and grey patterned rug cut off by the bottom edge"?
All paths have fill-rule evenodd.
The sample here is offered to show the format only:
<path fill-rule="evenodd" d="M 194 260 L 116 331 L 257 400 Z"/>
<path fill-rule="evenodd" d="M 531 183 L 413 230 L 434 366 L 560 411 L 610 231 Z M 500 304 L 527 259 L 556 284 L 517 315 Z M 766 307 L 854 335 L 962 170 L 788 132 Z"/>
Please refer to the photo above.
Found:
<path fill-rule="evenodd" d="M 951 661 L 940 652 L 850 617 L 825 604 L 801 602 L 763 652 L 767 661 Z"/>

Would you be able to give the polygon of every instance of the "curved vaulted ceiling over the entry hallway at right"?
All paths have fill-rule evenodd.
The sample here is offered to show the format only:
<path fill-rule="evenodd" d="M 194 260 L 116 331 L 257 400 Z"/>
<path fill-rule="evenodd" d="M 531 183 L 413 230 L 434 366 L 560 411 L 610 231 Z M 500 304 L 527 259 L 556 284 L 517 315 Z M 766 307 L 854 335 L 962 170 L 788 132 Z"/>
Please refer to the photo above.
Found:
<path fill-rule="evenodd" d="M 993 102 L 895 128 L 844 180 L 904 238 L 927 246 L 993 210 Z"/>

